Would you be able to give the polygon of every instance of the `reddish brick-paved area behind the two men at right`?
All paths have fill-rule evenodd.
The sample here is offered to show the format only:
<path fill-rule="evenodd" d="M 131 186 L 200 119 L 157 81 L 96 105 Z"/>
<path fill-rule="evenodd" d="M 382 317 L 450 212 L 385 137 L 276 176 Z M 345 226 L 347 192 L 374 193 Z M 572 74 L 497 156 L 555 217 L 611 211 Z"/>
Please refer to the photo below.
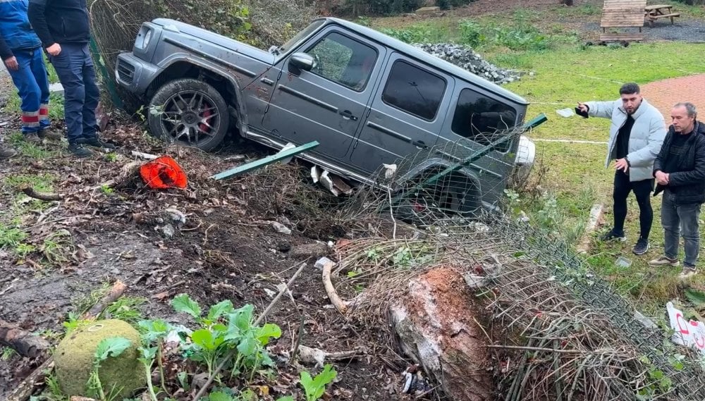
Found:
<path fill-rule="evenodd" d="M 689 101 L 698 109 L 698 119 L 705 118 L 705 74 L 670 78 L 642 85 L 642 94 L 661 111 L 670 125 L 670 111 L 679 101 Z"/>

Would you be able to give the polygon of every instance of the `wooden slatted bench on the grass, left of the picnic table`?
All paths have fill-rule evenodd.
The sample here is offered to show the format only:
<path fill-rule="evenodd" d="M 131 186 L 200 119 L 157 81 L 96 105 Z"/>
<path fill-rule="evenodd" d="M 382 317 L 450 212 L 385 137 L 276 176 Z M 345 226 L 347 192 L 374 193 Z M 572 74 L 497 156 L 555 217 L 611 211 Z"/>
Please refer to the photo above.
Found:
<path fill-rule="evenodd" d="M 605 0 L 600 27 L 601 42 L 639 42 L 644 40 L 644 7 L 646 0 Z M 607 32 L 610 28 L 638 28 L 639 32 Z"/>

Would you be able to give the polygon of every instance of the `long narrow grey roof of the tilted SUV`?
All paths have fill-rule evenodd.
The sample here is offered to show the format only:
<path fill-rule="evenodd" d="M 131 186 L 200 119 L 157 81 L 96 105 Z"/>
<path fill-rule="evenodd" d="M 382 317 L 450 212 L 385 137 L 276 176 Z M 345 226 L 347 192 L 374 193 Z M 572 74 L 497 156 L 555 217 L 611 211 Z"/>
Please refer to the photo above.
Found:
<path fill-rule="evenodd" d="M 436 56 L 433 56 L 426 51 L 423 51 L 422 49 L 419 49 L 417 47 L 414 47 L 410 44 L 404 43 L 400 41 L 399 39 L 395 39 L 393 37 L 390 37 L 388 35 L 385 35 L 384 33 L 381 33 L 379 31 L 373 30 L 369 27 L 365 27 L 364 25 L 359 25 L 356 23 L 352 23 L 348 20 L 342 20 L 340 18 L 317 18 L 316 20 L 326 20 L 326 25 L 330 25 L 332 23 L 341 25 L 342 27 L 346 27 L 349 30 L 353 30 L 355 32 L 358 32 L 369 39 L 374 40 L 375 42 L 379 42 L 380 44 L 384 44 L 386 47 L 389 47 L 391 49 L 394 49 L 396 51 L 399 51 L 401 53 L 407 54 L 408 56 L 411 56 L 413 58 L 416 58 L 418 61 L 422 61 L 423 63 L 430 64 L 431 66 L 436 66 L 439 67 L 443 70 L 448 71 L 449 73 L 455 75 L 458 78 L 461 78 L 462 80 L 466 80 L 467 82 L 470 82 L 474 85 L 477 85 L 478 87 L 482 87 L 485 90 L 489 90 L 490 92 L 494 92 L 495 94 L 498 94 L 502 97 L 505 97 L 511 101 L 514 101 L 518 104 L 523 104 L 523 105 L 528 105 L 529 102 L 524 99 L 523 97 L 518 96 L 517 94 L 510 92 L 508 90 L 505 90 L 503 87 L 496 85 L 494 82 L 490 82 L 489 80 L 486 80 L 484 78 L 481 78 L 477 75 L 474 75 L 473 73 L 470 73 L 470 71 L 465 70 L 463 68 L 460 68 L 458 66 L 455 66 L 453 63 L 449 63 L 448 61 L 443 60 L 442 58 L 438 58 Z"/>

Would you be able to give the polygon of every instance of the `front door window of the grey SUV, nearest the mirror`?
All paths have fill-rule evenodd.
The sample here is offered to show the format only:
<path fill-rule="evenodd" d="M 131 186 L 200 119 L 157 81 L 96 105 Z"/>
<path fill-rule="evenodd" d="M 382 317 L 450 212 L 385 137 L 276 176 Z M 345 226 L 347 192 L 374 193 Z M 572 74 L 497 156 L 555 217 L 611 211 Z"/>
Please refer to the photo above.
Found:
<path fill-rule="evenodd" d="M 316 59 L 312 73 L 362 92 L 377 61 L 377 51 L 355 39 L 331 32 L 306 51 Z"/>

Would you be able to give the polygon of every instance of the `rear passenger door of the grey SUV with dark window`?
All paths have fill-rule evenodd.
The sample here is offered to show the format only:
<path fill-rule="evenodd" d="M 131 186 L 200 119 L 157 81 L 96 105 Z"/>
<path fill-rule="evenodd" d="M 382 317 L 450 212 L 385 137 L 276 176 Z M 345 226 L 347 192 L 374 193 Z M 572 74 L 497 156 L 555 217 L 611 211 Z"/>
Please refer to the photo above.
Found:
<path fill-rule="evenodd" d="M 355 141 L 351 164 L 372 173 L 438 140 L 453 78 L 393 53 Z"/>

